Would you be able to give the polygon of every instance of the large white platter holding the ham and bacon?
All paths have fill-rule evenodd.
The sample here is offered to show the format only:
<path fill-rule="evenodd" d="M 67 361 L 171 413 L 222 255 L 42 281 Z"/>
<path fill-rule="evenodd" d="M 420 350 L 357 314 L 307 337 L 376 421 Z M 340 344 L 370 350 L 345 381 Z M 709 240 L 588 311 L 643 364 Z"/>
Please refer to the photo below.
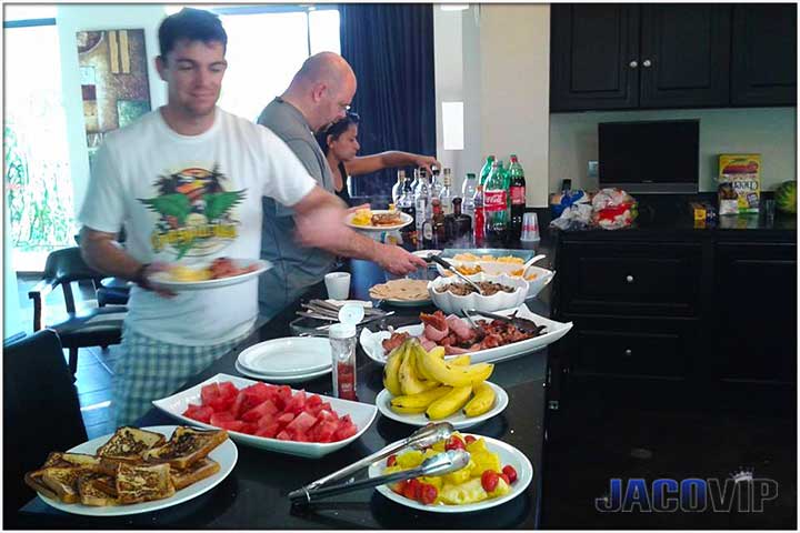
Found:
<path fill-rule="evenodd" d="M 563 335 L 567 334 L 569 330 L 572 329 L 572 322 L 563 323 L 546 319 L 544 316 L 540 316 L 531 312 L 526 304 L 520 305 L 518 309 L 519 312 L 517 313 L 517 316 L 521 319 L 532 320 L 537 325 L 544 325 L 546 329 L 543 330 L 543 333 L 540 333 L 539 336 L 534 336 L 533 339 L 512 342 L 511 344 L 506 344 L 498 348 L 490 348 L 488 350 L 468 352 L 470 355 L 470 361 L 472 363 L 497 363 L 499 361 L 504 361 L 507 359 L 517 358 L 527 353 L 534 352 L 537 350 L 541 350 L 548 344 L 551 344 L 561 339 Z M 506 309 L 503 311 L 498 311 L 497 314 L 509 315 L 513 312 L 513 309 Z M 479 318 L 476 319 L 480 320 Z M 491 319 L 483 320 L 491 321 Z M 419 336 L 422 334 L 423 330 L 424 325 L 420 323 L 398 328 L 394 330 L 394 332 L 409 333 L 411 336 Z M 372 332 L 369 329 L 364 328 L 361 330 L 359 341 L 361 342 L 361 348 L 363 348 L 367 356 L 369 356 L 372 361 L 377 363 L 386 364 L 387 353 L 384 352 L 381 342 L 389 339 L 391 333 L 389 333 L 388 331 Z M 456 355 L 447 355 L 447 358 Z"/>

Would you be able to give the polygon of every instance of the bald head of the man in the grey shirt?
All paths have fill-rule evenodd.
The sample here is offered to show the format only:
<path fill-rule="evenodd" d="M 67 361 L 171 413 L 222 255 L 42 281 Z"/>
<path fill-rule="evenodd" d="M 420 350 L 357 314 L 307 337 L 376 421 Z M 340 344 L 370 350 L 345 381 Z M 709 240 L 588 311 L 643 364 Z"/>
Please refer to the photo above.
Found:
<path fill-rule="evenodd" d="M 294 74 L 283 99 L 300 110 L 314 131 L 344 117 L 356 94 L 356 73 L 344 58 L 320 52 Z"/>

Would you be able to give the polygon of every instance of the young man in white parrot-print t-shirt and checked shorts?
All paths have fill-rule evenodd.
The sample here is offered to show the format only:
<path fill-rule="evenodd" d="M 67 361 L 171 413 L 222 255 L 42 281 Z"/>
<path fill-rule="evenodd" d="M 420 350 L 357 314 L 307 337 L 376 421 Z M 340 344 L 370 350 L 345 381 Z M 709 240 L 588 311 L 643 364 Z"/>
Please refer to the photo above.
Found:
<path fill-rule="evenodd" d="M 257 279 L 156 292 L 148 278 L 163 263 L 258 259 L 262 197 L 293 208 L 307 245 L 336 248 L 352 234 L 343 205 L 283 141 L 217 108 L 227 67 L 219 19 L 184 9 L 164 19 L 159 41 L 156 67 L 168 103 L 106 135 L 80 213 L 87 262 L 137 283 L 114 375 L 118 425 L 231 350 L 258 315 Z M 123 225 L 124 250 L 114 242 Z"/>

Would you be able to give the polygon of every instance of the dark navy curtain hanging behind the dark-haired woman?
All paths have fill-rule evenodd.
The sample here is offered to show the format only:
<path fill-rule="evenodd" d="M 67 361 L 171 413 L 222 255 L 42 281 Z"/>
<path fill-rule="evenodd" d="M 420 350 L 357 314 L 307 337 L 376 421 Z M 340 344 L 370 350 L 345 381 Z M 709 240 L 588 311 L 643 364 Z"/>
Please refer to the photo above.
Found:
<path fill-rule="evenodd" d="M 343 3 L 341 53 L 358 78 L 361 154 L 384 150 L 436 155 L 433 7 Z M 356 195 L 391 195 L 397 171 L 352 179 Z"/>

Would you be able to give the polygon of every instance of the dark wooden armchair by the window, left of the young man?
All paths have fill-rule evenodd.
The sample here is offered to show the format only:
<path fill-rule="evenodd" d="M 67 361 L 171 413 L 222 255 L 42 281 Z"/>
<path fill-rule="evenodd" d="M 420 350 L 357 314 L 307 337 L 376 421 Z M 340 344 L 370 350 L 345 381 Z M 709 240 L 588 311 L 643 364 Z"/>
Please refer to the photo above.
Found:
<path fill-rule="evenodd" d="M 28 292 L 28 298 L 33 300 L 33 331 L 49 328 L 59 334 L 63 348 L 69 349 L 69 368 L 73 374 L 78 371 L 79 348 L 106 348 L 121 342 L 122 321 L 128 308 L 93 308 L 76 311 L 71 282 L 89 280 L 97 291 L 102 279 L 100 272 L 86 264 L 79 248 L 66 248 L 48 255 L 43 279 Z M 63 291 L 68 318 L 62 322 L 46 325 L 42 323 L 44 299 L 59 285 Z"/>

